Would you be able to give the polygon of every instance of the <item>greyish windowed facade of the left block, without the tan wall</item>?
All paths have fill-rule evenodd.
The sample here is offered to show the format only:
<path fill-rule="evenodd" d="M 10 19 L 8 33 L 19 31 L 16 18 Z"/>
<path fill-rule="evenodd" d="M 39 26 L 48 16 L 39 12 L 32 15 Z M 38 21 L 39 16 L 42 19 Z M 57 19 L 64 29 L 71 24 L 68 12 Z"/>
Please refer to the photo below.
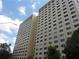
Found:
<path fill-rule="evenodd" d="M 25 20 L 19 28 L 14 51 L 14 59 L 26 59 L 27 58 L 27 48 L 28 41 L 31 31 L 32 16 Z"/>

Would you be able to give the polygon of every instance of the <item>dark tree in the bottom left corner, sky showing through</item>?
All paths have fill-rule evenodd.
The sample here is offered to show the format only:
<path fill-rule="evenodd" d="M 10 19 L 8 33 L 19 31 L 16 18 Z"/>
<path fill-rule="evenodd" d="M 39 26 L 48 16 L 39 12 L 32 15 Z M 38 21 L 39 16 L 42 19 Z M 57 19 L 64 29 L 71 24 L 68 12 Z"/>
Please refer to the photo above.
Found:
<path fill-rule="evenodd" d="M 11 44 L 7 44 L 7 43 L 3 43 L 0 46 L 0 59 L 9 59 L 10 57 L 10 45 Z"/>

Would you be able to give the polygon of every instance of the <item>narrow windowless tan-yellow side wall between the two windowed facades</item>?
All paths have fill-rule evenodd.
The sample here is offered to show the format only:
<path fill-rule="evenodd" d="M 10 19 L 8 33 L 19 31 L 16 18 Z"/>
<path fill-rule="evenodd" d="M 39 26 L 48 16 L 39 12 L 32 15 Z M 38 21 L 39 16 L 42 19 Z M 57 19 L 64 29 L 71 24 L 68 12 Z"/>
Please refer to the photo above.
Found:
<path fill-rule="evenodd" d="M 28 58 L 34 58 L 34 48 L 35 48 L 35 38 L 37 31 L 37 17 L 33 15 L 32 17 L 32 25 L 31 25 L 31 34 L 28 43 Z"/>

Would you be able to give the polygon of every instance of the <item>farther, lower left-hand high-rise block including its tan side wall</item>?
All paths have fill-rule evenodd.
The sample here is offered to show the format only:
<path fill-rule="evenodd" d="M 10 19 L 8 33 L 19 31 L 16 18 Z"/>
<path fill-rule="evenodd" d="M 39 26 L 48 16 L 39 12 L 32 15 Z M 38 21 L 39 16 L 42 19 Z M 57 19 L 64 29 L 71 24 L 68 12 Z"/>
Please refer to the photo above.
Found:
<path fill-rule="evenodd" d="M 29 57 L 31 52 L 33 53 L 34 51 L 33 47 L 35 41 L 35 40 L 33 41 L 33 39 L 35 38 L 34 36 L 36 31 L 36 20 L 37 20 L 36 16 L 33 15 L 20 25 L 14 47 L 13 59 L 27 59 L 27 57 Z"/>

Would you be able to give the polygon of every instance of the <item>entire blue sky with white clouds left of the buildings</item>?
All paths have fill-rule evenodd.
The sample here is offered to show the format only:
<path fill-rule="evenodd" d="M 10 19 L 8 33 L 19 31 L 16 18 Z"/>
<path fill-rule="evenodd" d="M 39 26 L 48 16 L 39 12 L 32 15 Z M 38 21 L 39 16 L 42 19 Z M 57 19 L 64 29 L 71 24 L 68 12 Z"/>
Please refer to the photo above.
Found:
<path fill-rule="evenodd" d="M 20 23 L 38 12 L 48 0 L 0 0 L 0 43 L 13 49 Z"/>

